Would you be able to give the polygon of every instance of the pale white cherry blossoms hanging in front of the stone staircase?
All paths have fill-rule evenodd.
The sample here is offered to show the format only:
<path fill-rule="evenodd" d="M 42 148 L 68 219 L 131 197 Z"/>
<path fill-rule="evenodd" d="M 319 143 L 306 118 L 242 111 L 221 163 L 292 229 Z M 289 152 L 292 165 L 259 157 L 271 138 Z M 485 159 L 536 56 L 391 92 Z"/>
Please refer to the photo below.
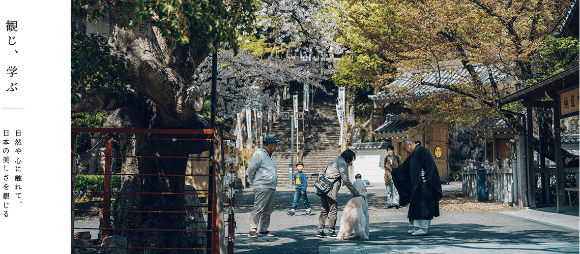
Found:
<path fill-rule="evenodd" d="M 342 29 L 339 13 L 342 3 L 334 0 L 260 1 L 256 22 L 238 25 L 237 41 L 241 51 L 235 54 L 228 45 L 218 54 L 218 115 L 226 119 L 245 108 L 276 111 L 276 93 L 289 82 L 310 83 L 322 91 L 316 62 L 293 57 L 300 50 L 345 50 L 340 39 L 333 38 Z M 255 47 L 246 47 L 250 42 Z M 264 50 L 264 47 L 267 48 Z M 211 88 L 211 57 L 195 70 L 194 79 L 203 91 Z"/>

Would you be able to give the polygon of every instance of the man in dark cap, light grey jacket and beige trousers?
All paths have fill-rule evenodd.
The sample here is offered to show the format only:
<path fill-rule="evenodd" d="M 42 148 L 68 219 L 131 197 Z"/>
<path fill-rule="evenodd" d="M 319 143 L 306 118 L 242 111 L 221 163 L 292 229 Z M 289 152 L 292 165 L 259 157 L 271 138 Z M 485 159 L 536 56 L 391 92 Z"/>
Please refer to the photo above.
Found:
<path fill-rule="evenodd" d="M 250 232 L 248 237 L 269 236 L 274 233 L 268 231 L 270 215 L 274 211 L 276 185 L 278 174 L 276 161 L 272 153 L 278 146 L 276 135 L 267 135 L 262 141 L 263 146 L 256 150 L 248 165 L 248 180 L 254 191 L 254 207 L 250 214 Z M 258 223 L 260 230 L 258 231 Z"/>

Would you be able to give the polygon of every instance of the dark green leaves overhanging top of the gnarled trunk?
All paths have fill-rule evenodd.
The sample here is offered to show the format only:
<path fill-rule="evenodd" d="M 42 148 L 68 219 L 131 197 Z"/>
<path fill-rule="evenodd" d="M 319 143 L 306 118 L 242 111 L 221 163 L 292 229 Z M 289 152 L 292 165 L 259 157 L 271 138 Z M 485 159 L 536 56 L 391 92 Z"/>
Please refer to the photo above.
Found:
<path fill-rule="evenodd" d="M 134 17 L 127 17 L 126 23 L 132 28 L 137 21 L 154 21 L 164 37 L 175 38 L 180 45 L 190 41 L 196 46 L 215 51 L 214 43 L 228 42 L 237 53 L 235 38 L 237 25 L 251 24 L 256 6 L 252 0 L 182 1 L 111 1 L 111 9 L 116 12 L 133 10 Z"/>

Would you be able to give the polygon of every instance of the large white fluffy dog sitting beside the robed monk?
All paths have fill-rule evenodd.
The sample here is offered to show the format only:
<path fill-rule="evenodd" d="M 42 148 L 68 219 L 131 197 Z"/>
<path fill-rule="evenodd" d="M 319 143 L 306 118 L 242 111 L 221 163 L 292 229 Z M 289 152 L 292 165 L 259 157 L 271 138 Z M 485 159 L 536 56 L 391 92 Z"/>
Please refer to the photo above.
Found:
<path fill-rule="evenodd" d="M 367 203 L 367 186 L 361 179 L 353 182 L 360 196 L 350 198 L 346 203 L 345 211 L 342 212 L 340 219 L 340 230 L 336 240 L 344 240 L 351 233 L 360 237 L 361 240 L 368 240 L 368 203 Z M 352 194 L 351 194 L 352 196 Z"/>

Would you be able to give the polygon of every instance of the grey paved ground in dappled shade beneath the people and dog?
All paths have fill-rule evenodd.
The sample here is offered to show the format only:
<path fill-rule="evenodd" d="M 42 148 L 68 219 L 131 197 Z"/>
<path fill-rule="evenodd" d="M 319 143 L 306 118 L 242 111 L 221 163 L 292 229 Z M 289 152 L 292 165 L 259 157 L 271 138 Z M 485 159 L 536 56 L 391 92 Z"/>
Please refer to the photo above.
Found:
<path fill-rule="evenodd" d="M 443 185 L 444 192 L 461 190 L 461 185 Z M 276 207 L 271 216 L 270 231 L 276 237 L 247 237 L 253 201 L 251 188 L 236 193 L 237 230 L 234 253 L 580 253 L 578 205 L 567 213 L 550 212 L 555 208 L 524 209 L 517 212 L 441 211 L 433 219 L 429 235 L 412 237 L 407 219 L 408 207 L 385 209 L 384 186 L 369 187 L 370 239 L 349 238 L 336 241 L 317 238 L 320 198 L 311 193 L 314 216 L 303 216 L 299 202 L 296 216 L 286 214 L 292 203 L 293 189 L 277 188 Z M 339 192 L 339 218 L 350 198 Z M 546 210 L 546 211 L 543 211 Z M 328 226 L 327 226 L 328 229 Z"/>

